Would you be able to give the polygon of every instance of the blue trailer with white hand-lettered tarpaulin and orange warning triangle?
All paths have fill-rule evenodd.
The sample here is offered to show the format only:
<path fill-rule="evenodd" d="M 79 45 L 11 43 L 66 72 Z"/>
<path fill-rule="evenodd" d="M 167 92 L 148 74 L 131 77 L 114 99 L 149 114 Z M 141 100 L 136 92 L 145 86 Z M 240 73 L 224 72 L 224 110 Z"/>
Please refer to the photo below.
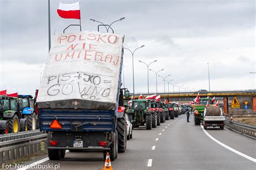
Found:
<path fill-rule="evenodd" d="M 111 161 L 125 152 L 127 125 L 121 89 L 124 35 L 56 33 L 37 95 L 39 126 L 48 133 L 48 157 L 100 151 Z"/>

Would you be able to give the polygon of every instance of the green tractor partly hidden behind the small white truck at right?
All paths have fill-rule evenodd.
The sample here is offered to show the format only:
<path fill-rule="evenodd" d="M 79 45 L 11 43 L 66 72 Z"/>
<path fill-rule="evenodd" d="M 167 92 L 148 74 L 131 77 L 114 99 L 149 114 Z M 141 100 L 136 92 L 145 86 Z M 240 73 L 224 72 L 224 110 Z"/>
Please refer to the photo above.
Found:
<path fill-rule="evenodd" d="M 208 102 L 209 106 L 213 105 L 211 98 L 200 98 L 198 105 L 196 105 L 196 104 L 191 105 L 194 108 L 194 124 L 195 125 L 200 125 L 201 121 L 203 121 L 204 110 L 207 105 L 207 102 Z"/>

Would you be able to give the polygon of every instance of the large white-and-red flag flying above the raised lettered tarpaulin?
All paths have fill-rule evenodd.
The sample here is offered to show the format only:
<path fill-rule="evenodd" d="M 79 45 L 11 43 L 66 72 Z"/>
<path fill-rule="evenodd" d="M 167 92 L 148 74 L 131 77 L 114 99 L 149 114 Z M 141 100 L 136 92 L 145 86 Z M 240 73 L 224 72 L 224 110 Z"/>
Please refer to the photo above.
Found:
<path fill-rule="evenodd" d="M 59 3 L 58 15 L 62 18 L 80 19 L 79 2 L 73 4 Z"/>

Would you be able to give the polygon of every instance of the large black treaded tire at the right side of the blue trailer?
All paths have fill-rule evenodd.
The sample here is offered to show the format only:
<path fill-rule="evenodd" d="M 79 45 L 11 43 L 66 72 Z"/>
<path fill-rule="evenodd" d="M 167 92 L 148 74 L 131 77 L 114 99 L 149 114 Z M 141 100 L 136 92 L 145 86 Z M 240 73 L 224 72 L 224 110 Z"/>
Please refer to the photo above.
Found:
<path fill-rule="evenodd" d="M 118 132 L 118 152 L 125 152 L 127 143 L 127 123 L 126 119 L 119 118 L 117 121 L 117 132 Z"/>

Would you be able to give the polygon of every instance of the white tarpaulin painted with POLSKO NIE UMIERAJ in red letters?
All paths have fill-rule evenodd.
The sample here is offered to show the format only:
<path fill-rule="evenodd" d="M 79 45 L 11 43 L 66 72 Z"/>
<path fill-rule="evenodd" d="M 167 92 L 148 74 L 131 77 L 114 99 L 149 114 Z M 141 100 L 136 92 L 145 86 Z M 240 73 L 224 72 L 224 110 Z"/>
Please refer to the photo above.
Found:
<path fill-rule="evenodd" d="M 55 35 L 38 91 L 39 108 L 113 110 L 123 35 L 82 31 Z"/>

